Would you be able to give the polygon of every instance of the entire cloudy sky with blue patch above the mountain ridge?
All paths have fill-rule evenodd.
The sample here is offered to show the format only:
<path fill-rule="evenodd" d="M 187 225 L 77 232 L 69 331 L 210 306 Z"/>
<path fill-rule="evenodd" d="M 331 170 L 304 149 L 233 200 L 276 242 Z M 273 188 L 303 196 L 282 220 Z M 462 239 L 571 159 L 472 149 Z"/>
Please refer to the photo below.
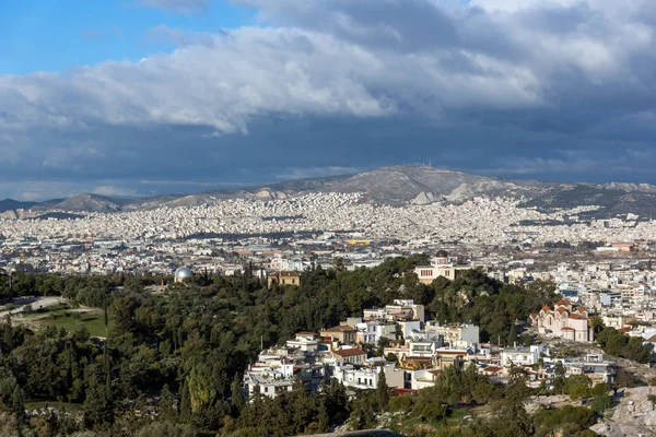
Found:
<path fill-rule="evenodd" d="M 654 0 L 2 0 L 0 198 L 656 184 Z"/>

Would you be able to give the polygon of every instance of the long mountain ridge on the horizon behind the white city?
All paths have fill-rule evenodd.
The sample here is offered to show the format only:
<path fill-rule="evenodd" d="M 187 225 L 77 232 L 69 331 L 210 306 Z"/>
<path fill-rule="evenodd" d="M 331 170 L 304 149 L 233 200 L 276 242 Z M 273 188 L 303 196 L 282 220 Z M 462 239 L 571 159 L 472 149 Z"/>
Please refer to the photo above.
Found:
<path fill-rule="evenodd" d="M 409 165 L 383 167 L 355 175 L 296 179 L 195 194 L 121 199 L 85 193 L 42 203 L 7 199 L 0 201 L 0 212 L 30 208 L 32 211 L 39 212 L 105 213 L 159 206 L 211 205 L 224 199 L 288 199 L 308 192 L 360 192 L 363 202 L 394 205 L 460 203 L 480 196 L 511 197 L 519 199 L 522 206 L 543 211 L 554 208 L 599 205 L 601 208 L 590 213 L 591 216 L 608 217 L 634 213 L 645 217 L 656 217 L 656 187 L 647 184 L 595 185 L 518 180 Z"/>

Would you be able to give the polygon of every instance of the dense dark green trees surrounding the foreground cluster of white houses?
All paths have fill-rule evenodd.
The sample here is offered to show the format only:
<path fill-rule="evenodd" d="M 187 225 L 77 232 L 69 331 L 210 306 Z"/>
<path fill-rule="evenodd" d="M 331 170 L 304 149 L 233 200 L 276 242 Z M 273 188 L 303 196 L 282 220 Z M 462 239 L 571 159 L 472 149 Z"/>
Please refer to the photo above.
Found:
<path fill-rule="evenodd" d="M 363 308 L 412 298 L 426 306 L 430 318 L 472 321 L 481 327 L 483 341 L 512 344 L 516 320 L 526 320 L 553 298 L 548 283 L 507 285 L 478 270 L 424 285 L 412 269 L 425 262 L 414 256 L 355 271 L 314 267 L 303 273 L 300 287 L 271 288 L 249 268 L 235 276 L 197 274 L 184 284 L 171 277 L 14 273 L 9 288 L 9 277 L 2 275 L 5 297 L 63 295 L 106 307 L 115 323 L 105 340 L 85 330 L 33 331 L 5 320 L 0 324 L 0 408 L 15 428 L 43 436 L 84 429 L 138 436 L 293 435 L 347 421 L 366 428 L 385 411 L 438 422 L 448 417 L 452 404 L 490 402 L 501 422 L 477 423 L 471 429 L 487 429 L 480 435 L 534 433 L 534 418 L 524 411 L 528 391 L 522 377 L 496 386 L 469 368 L 445 369 L 434 388 L 414 398 L 391 397 L 382 383 L 348 400 L 344 388 L 332 382 L 320 393 L 298 386 L 274 400 L 256 394 L 244 402 L 242 374 L 261 343 L 281 344 L 295 332 L 338 324 Z M 144 288 L 162 280 L 169 283 L 166 291 Z M 27 401 L 59 402 L 60 413 L 24 417 Z M 68 414 L 78 409 L 82 421 Z"/>

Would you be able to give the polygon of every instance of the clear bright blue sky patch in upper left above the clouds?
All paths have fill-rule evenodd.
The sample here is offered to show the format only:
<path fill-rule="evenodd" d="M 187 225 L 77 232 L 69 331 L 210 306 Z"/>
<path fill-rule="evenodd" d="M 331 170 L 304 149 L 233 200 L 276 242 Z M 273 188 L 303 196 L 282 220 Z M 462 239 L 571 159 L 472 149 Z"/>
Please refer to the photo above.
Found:
<path fill-rule="evenodd" d="M 66 71 L 106 60 L 131 60 L 175 44 L 157 26 L 213 33 L 253 24 L 254 11 L 222 1 L 180 13 L 139 0 L 3 0 L 0 74 Z"/>

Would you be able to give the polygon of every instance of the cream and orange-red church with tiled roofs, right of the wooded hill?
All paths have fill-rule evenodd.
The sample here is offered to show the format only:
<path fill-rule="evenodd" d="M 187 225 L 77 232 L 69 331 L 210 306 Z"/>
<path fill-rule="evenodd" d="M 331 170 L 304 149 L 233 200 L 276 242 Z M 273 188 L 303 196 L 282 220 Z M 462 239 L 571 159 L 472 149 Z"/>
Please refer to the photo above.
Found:
<path fill-rule="evenodd" d="M 588 324 L 587 310 L 573 307 L 569 300 L 557 302 L 553 309 L 543 306 L 540 312 L 530 315 L 530 320 L 541 334 L 579 342 L 595 339 L 595 332 Z"/>

